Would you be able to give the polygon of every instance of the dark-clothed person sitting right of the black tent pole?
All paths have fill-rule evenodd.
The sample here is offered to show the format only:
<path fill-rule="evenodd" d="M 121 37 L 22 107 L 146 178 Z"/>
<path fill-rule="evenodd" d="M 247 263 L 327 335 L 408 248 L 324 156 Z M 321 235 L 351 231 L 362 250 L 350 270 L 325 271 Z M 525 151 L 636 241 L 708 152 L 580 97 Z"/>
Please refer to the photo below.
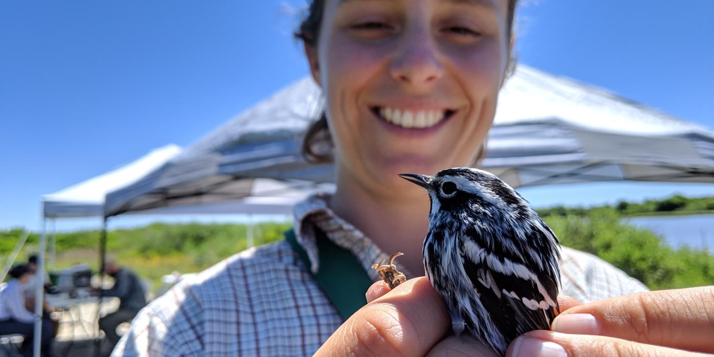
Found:
<path fill-rule="evenodd" d="M 102 294 L 119 298 L 119 309 L 99 319 L 99 328 L 104 331 L 106 339 L 111 343 L 111 348 L 114 348 L 121 338 L 116 333 L 116 327 L 121 323 L 131 321 L 136 313 L 146 306 L 146 291 L 141 285 L 139 276 L 136 276 L 136 273 L 129 268 L 121 267 L 112 261 L 104 264 L 102 270 L 114 278 L 114 286 L 110 289 L 103 289 Z"/>

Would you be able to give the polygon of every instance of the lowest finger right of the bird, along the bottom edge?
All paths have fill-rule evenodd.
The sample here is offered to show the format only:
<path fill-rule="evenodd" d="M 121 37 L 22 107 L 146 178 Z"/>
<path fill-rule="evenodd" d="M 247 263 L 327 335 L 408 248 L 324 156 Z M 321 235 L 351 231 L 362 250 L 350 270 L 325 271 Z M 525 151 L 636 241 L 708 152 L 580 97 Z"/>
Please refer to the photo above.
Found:
<path fill-rule="evenodd" d="M 620 338 L 568 335 L 550 331 L 532 331 L 516 338 L 506 351 L 507 357 L 610 357 L 610 356 L 702 356 L 675 348 L 648 345 Z"/>

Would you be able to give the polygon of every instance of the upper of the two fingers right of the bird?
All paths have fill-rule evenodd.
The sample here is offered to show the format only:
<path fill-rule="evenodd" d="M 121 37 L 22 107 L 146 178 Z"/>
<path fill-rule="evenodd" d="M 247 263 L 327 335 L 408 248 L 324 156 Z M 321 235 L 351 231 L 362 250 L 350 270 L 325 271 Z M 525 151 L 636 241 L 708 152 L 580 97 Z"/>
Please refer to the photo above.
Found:
<path fill-rule="evenodd" d="M 551 328 L 714 352 L 714 287 L 638 293 L 574 306 Z"/>

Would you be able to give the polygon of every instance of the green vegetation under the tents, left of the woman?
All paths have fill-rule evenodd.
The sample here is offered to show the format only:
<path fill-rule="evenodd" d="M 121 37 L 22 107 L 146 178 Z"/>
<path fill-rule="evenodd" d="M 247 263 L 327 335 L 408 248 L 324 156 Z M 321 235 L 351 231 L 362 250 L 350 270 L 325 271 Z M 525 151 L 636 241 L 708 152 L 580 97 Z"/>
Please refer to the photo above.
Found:
<path fill-rule="evenodd" d="M 278 241 L 288 223 L 259 223 L 253 228 L 256 246 Z M 0 261 L 4 263 L 22 234 L 21 229 L 0 231 Z M 107 235 L 107 256 L 129 266 L 154 288 L 161 276 L 179 271 L 201 271 L 246 248 L 247 226 L 241 224 L 154 223 L 133 229 L 117 229 Z M 17 261 L 36 252 L 39 236 L 31 234 Z M 56 269 L 88 263 L 99 268 L 99 231 L 56 234 Z"/>

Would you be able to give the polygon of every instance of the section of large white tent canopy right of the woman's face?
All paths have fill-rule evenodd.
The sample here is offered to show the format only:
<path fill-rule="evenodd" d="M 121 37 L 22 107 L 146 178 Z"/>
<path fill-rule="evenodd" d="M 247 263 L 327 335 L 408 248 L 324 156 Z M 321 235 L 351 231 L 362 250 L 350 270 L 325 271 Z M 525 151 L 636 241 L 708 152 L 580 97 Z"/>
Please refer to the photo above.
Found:
<path fill-rule="evenodd" d="M 501 91 L 482 166 L 514 187 L 714 183 L 714 132 L 603 89 L 520 66 Z"/>

